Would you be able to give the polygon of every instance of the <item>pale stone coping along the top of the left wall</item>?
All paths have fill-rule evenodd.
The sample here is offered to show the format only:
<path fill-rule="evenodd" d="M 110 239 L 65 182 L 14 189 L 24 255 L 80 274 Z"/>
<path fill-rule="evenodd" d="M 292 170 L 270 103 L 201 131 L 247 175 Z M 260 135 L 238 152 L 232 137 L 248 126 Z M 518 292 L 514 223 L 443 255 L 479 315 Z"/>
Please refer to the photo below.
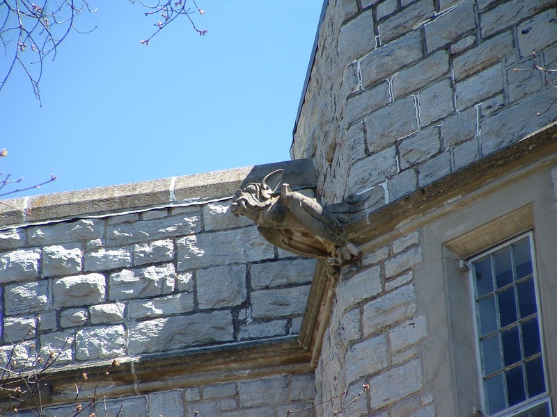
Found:
<path fill-rule="evenodd" d="M 283 181 L 293 189 L 315 187 L 317 183 L 315 168 L 307 158 L 120 186 L 17 197 L 0 200 L 0 228 L 227 199 L 246 183 L 260 182 L 269 172 L 278 169 L 285 171 Z"/>

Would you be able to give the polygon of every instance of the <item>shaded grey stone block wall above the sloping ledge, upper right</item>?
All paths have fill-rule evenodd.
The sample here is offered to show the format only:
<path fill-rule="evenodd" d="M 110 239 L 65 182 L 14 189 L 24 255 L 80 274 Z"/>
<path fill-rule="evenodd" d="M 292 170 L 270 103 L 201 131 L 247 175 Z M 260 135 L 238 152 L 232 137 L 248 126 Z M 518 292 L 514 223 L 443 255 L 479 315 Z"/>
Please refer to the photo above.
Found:
<path fill-rule="evenodd" d="M 326 202 L 381 186 L 388 204 L 549 124 L 556 88 L 531 69 L 557 67 L 555 6 L 329 1 L 292 158 Z"/>

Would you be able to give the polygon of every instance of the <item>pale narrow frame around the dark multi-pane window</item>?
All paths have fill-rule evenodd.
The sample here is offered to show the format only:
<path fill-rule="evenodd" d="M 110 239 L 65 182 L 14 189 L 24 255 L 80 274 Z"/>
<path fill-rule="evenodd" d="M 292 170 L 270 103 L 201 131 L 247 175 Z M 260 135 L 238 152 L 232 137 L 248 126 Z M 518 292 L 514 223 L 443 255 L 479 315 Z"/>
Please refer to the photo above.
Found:
<path fill-rule="evenodd" d="M 542 357 L 542 363 L 544 366 L 544 384 L 545 384 L 545 391 L 543 393 L 540 393 L 538 395 L 535 395 L 532 398 L 527 398 L 526 400 L 519 402 L 518 404 L 512 405 L 510 407 L 507 407 L 501 411 L 496 412 L 495 414 L 487 414 L 487 409 L 488 409 L 488 405 L 487 405 L 487 395 L 485 393 L 485 380 L 484 380 L 484 370 L 483 370 L 483 366 L 482 366 L 482 350 L 481 350 L 481 346 L 480 346 L 480 335 L 479 335 L 479 314 L 477 311 L 477 307 L 476 307 L 476 288 L 475 288 L 475 284 L 474 284 L 474 276 L 473 276 L 473 261 L 476 261 L 478 259 L 484 258 L 485 256 L 489 256 L 490 254 L 493 254 L 495 252 L 498 252 L 499 250 L 503 249 L 504 247 L 510 247 L 510 245 L 512 245 L 513 243 L 517 243 L 519 240 L 524 240 L 524 238 L 528 239 L 528 242 L 530 244 L 530 255 L 531 255 L 531 261 L 532 261 L 532 274 L 533 274 L 533 282 L 534 282 L 534 288 L 535 288 L 535 302 L 536 302 L 536 307 L 537 307 L 537 318 L 538 318 L 538 329 L 540 332 L 540 347 L 541 347 L 541 357 Z M 512 416 L 519 416 L 519 414 L 521 414 L 524 411 L 528 411 L 528 409 L 532 409 L 533 407 L 536 407 L 539 404 L 542 404 L 543 402 L 548 402 L 549 403 L 549 417 L 553 416 L 553 410 L 551 407 L 551 391 L 550 391 L 550 385 L 549 385 L 549 372 L 548 372 L 548 363 L 547 363 L 547 359 L 546 359 L 546 353 L 545 353 L 545 346 L 544 346 L 544 330 L 543 330 L 543 324 L 542 324 L 542 306 L 541 306 L 541 302 L 540 302 L 540 290 L 539 290 L 539 284 L 538 284 L 538 269 L 537 269 L 537 259 L 536 259 L 536 250 L 535 250 L 535 240 L 534 240 L 534 234 L 533 234 L 533 230 L 530 229 L 529 231 L 525 231 L 521 234 L 515 235 L 515 236 L 511 236 L 508 239 L 505 239 L 503 241 L 500 241 L 499 243 L 496 243 L 495 245 L 492 245 L 492 247 L 487 247 L 485 250 L 482 250 L 481 252 L 477 252 L 476 254 L 473 254 L 472 256 L 470 256 L 467 260 L 466 260 L 466 267 L 468 269 L 468 277 L 469 277 L 469 294 L 471 297 L 471 314 L 473 316 L 473 334 L 474 334 L 474 345 L 475 345 L 475 350 L 476 350 L 476 368 L 477 368 L 477 374 L 478 374 L 478 378 L 479 378 L 479 393 L 480 393 L 480 400 L 481 400 L 481 404 L 483 407 L 483 412 L 485 412 L 486 416 L 490 416 L 490 417 L 512 417 Z M 514 282 L 514 281 L 513 281 Z M 516 285 L 516 284 L 515 284 Z M 494 288 L 494 292 L 495 292 Z M 517 321 L 519 321 L 520 319 L 517 318 Z M 501 327 L 499 327 L 499 320 L 497 323 L 497 331 L 500 332 L 501 331 Z M 505 327 L 505 326 L 503 326 Z M 502 346 L 500 347 L 502 349 Z M 502 364 L 502 369 L 505 368 L 505 366 Z M 507 393 L 505 393 L 505 402 L 508 401 L 508 395 Z"/>

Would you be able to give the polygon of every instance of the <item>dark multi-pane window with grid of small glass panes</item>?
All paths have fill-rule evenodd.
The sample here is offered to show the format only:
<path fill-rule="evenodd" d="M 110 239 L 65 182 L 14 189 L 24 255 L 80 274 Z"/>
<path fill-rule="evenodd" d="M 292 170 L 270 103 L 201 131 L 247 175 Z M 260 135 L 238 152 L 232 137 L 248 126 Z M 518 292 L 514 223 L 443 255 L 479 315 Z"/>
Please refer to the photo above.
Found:
<path fill-rule="evenodd" d="M 551 417 L 532 234 L 469 261 L 485 414 Z"/>

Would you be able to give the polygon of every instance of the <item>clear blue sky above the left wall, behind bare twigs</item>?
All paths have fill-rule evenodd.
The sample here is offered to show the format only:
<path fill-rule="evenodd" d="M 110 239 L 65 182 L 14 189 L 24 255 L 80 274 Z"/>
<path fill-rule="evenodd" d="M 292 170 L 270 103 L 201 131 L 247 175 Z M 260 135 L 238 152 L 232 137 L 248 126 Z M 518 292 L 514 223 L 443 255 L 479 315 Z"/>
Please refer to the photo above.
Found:
<path fill-rule="evenodd" d="M 53 0 L 54 1 L 54 0 Z M 198 0 L 198 35 L 129 0 L 92 0 L 40 81 L 42 108 L 16 72 L 0 92 L 0 171 L 12 197 L 285 161 L 321 0 Z M 192 5 L 193 6 L 193 5 Z M 3 177 L 2 177 L 3 178 Z"/>

